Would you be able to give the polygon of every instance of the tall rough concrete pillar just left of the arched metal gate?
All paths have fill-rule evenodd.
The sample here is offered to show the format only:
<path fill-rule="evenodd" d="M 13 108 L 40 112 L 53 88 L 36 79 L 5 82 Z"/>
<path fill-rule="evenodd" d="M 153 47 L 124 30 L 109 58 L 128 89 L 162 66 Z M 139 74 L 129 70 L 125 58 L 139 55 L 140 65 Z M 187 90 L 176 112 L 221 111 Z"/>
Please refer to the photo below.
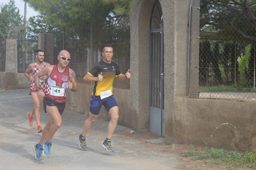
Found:
<path fill-rule="evenodd" d="M 155 0 L 140 0 L 133 6 L 131 34 L 131 119 L 136 131 L 149 129 L 149 28 Z"/>

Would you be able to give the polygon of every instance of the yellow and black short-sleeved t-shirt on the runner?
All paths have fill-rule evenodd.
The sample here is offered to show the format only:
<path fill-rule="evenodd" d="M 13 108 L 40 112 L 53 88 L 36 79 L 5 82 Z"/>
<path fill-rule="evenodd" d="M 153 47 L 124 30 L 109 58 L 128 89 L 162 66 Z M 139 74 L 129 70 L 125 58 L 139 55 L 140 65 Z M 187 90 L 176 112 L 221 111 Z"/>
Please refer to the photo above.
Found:
<path fill-rule="evenodd" d="M 92 77 L 98 77 L 98 75 L 102 72 L 103 80 L 102 81 L 94 81 L 94 88 L 92 95 L 100 96 L 100 92 L 111 90 L 111 94 L 113 94 L 113 81 L 115 77 L 122 75 L 116 63 L 106 63 L 103 60 L 96 62 L 91 70 L 87 73 Z"/>

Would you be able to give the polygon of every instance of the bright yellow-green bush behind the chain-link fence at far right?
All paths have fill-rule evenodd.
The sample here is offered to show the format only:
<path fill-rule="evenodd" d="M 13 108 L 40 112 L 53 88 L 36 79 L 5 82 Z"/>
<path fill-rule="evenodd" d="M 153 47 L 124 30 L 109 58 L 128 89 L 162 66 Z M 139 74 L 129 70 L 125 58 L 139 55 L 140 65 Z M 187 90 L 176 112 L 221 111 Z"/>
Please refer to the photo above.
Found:
<path fill-rule="evenodd" d="M 245 77 L 245 69 L 248 69 L 249 67 L 249 60 L 251 57 L 251 47 L 246 47 L 245 54 L 237 58 L 237 62 L 239 64 L 239 73 L 240 77 Z"/>

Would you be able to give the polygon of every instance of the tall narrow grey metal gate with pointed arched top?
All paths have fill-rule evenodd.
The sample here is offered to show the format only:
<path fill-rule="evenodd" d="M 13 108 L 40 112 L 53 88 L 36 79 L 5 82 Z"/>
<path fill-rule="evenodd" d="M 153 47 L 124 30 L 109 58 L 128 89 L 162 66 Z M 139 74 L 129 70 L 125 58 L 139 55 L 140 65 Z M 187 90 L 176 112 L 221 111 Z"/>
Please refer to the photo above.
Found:
<path fill-rule="evenodd" d="M 150 19 L 150 108 L 149 131 L 164 136 L 163 19 L 156 0 Z"/>

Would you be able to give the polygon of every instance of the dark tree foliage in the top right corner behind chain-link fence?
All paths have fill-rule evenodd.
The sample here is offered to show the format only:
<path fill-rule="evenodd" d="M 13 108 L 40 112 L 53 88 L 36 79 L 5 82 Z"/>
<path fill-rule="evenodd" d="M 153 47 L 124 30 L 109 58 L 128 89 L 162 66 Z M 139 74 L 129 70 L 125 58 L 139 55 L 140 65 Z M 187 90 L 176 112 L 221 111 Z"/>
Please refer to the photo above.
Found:
<path fill-rule="evenodd" d="M 255 37 L 255 23 L 250 23 L 249 18 L 255 17 L 255 0 L 248 1 L 248 7 L 244 8 L 240 1 L 230 0 L 200 0 L 200 29 L 215 31 L 223 37 L 242 39 L 240 30 L 247 36 Z M 250 12 L 249 12 L 250 11 Z M 250 14 L 249 14 L 250 13 Z M 233 23 L 234 27 L 232 26 Z M 243 35 L 243 37 L 245 37 Z M 245 37 L 248 41 L 248 37 Z"/>

